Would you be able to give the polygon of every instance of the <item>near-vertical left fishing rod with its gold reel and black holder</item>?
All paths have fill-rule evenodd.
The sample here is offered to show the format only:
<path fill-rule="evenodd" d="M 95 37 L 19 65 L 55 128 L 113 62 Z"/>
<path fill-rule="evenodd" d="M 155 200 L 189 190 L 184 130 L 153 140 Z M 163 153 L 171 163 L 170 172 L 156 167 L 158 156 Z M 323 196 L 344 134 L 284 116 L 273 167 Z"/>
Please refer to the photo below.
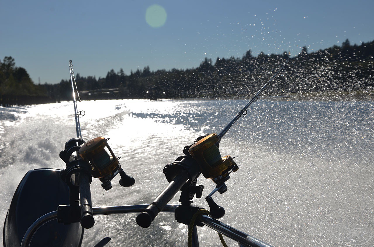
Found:
<path fill-rule="evenodd" d="M 70 188 L 70 204 L 66 207 L 60 207 L 60 215 L 63 215 L 62 212 L 67 212 L 65 215 L 71 215 L 70 211 L 80 206 L 81 213 L 80 215 L 76 214 L 76 219 L 63 215 L 61 216 L 61 222 L 80 222 L 83 228 L 91 228 L 95 224 L 90 189 L 92 177 L 98 178 L 102 182 L 102 188 L 105 190 L 112 188 L 111 181 L 117 174 L 121 176 L 119 184 L 123 187 L 134 185 L 135 179 L 123 171 L 119 163 L 120 157 L 116 157 L 108 145 L 107 141 L 109 138 L 96 137 L 87 142 L 83 140 L 79 118 L 84 116 L 85 112 L 83 110 L 78 111 L 77 101 L 80 101 L 80 97 L 71 60 L 69 61 L 69 69 L 73 93 L 76 138 L 67 141 L 65 149 L 59 154 L 66 164 L 66 168 L 61 171 L 60 176 Z"/>

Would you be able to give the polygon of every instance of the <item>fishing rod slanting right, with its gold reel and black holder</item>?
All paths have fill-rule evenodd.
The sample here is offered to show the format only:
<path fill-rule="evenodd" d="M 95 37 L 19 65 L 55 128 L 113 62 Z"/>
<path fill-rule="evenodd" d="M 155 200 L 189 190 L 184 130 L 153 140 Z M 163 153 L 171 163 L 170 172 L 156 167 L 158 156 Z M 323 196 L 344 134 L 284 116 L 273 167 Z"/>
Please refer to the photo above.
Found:
<path fill-rule="evenodd" d="M 239 167 L 234 162 L 232 156 L 221 156 L 219 150 L 220 141 L 240 117 L 247 115 L 248 107 L 258 99 L 258 96 L 265 90 L 270 82 L 276 78 L 288 62 L 289 59 L 283 63 L 281 68 L 273 74 L 272 78 L 261 87 L 218 135 L 210 134 L 200 136 L 193 144 L 184 147 L 184 156 L 178 157 L 175 162 L 164 167 L 163 172 L 165 173 L 169 185 L 137 216 L 138 225 L 144 228 L 150 226 L 157 214 L 161 212 L 163 207 L 165 207 L 179 190 L 182 191 L 180 198 L 182 204 L 186 201 L 185 198 L 182 198 L 183 194 L 189 193 L 190 200 L 192 200 L 194 194 L 196 194 L 198 198 L 201 197 L 203 187 L 202 185 L 196 186 L 196 179 L 201 173 L 205 178 L 211 179 L 216 184 L 212 192 L 205 198 L 211 209 L 209 215 L 216 219 L 224 215 L 224 209 L 213 201 L 212 196 L 216 192 L 223 194 L 227 191 L 225 182 L 230 178 L 230 173 L 236 172 Z M 184 193 L 184 191 L 187 192 Z M 187 203 L 191 204 L 192 201 Z"/>

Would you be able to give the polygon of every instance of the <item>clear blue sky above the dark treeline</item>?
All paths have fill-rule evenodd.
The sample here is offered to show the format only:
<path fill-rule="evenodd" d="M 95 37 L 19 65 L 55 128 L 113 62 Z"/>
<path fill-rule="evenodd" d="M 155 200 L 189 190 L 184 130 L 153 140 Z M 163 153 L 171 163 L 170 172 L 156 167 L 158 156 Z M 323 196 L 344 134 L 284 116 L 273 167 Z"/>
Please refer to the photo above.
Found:
<path fill-rule="evenodd" d="M 0 59 L 12 56 L 43 84 L 68 79 L 70 59 L 76 73 L 99 78 L 120 68 L 196 68 L 249 49 L 296 55 L 373 41 L 373 10 L 373 0 L 1 0 Z"/>

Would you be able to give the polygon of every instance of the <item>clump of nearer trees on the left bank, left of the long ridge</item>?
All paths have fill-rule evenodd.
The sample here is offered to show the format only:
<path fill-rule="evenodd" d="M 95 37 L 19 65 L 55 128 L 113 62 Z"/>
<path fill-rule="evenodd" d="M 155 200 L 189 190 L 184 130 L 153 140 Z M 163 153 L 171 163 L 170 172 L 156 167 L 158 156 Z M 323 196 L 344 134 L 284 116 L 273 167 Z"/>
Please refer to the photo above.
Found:
<path fill-rule="evenodd" d="M 35 85 L 26 69 L 15 66 L 13 57 L 0 60 L 0 104 L 49 103 L 45 87 Z"/>

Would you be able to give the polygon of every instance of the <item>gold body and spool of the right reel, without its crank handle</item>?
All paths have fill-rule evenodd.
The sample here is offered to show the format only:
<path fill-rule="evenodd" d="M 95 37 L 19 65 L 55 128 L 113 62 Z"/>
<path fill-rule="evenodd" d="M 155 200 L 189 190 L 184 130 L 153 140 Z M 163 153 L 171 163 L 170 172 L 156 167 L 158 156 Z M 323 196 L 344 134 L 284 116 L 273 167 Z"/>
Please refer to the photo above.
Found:
<path fill-rule="evenodd" d="M 229 171 L 236 172 L 239 167 L 228 155 L 221 157 L 220 150 L 215 145 L 220 138 L 217 134 L 210 134 L 194 143 L 188 153 L 197 161 L 205 178 L 221 181 L 229 175 Z"/>

